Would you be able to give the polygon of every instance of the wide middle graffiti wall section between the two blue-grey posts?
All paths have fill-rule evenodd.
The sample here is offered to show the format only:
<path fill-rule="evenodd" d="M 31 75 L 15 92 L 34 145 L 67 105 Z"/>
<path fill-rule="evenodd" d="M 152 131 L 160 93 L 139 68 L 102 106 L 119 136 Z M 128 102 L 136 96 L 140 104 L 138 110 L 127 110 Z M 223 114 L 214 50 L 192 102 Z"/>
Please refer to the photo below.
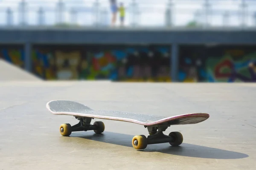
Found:
<path fill-rule="evenodd" d="M 44 79 L 171 81 L 165 46 L 36 45 L 33 73 Z"/>

